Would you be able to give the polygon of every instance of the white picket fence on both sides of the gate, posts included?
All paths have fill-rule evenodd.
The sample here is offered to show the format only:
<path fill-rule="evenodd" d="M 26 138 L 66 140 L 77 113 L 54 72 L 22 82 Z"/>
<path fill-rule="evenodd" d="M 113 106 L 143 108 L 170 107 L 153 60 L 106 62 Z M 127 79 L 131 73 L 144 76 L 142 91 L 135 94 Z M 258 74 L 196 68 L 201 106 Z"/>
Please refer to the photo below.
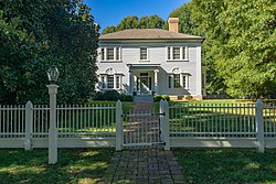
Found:
<path fill-rule="evenodd" d="M 123 149 L 121 104 L 57 106 L 59 148 Z M 176 147 L 276 148 L 276 106 L 160 102 L 161 138 Z M 47 148 L 50 108 L 0 106 L 0 148 Z M 168 129 L 168 130 L 167 130 Z M 167 133 L 168 132 L 168 133 Z"/>

